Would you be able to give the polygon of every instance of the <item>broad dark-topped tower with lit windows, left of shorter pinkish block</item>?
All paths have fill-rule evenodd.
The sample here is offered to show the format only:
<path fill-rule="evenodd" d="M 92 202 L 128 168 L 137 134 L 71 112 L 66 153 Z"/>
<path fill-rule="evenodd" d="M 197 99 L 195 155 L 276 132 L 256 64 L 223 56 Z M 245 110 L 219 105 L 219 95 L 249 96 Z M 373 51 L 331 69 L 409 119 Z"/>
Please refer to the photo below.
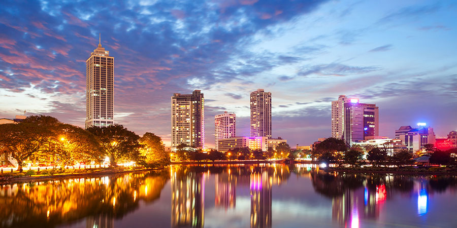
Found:
<path fill-rule="evenodd" d="M 171 97 L 172 148 L 184 143 L 205 145 L 205 99 L 200 90 L 192 94 L 175 93 Z"/>

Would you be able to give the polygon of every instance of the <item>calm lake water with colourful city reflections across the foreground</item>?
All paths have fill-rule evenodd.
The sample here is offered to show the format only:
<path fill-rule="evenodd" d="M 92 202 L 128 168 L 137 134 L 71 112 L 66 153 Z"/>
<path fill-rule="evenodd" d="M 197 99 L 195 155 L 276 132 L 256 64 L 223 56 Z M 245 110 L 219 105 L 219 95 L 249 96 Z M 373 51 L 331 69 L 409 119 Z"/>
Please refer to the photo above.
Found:
<path fill-rule="evenodd" d="M 0 185 L 0 227 L 457 227 L 457 178 L 172 166 Z"/>

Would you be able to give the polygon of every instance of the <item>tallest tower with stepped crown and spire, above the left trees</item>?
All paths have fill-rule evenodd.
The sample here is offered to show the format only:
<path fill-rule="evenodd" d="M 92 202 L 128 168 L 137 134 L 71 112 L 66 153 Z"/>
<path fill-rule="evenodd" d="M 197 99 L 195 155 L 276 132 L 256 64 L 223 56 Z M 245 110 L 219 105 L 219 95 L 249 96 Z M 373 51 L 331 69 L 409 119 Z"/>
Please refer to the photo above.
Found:
<path fill-rule="evenodd" d="M 86 128 L 114 124 L 114 57 L 99 47 L 86 60 Z"/>

